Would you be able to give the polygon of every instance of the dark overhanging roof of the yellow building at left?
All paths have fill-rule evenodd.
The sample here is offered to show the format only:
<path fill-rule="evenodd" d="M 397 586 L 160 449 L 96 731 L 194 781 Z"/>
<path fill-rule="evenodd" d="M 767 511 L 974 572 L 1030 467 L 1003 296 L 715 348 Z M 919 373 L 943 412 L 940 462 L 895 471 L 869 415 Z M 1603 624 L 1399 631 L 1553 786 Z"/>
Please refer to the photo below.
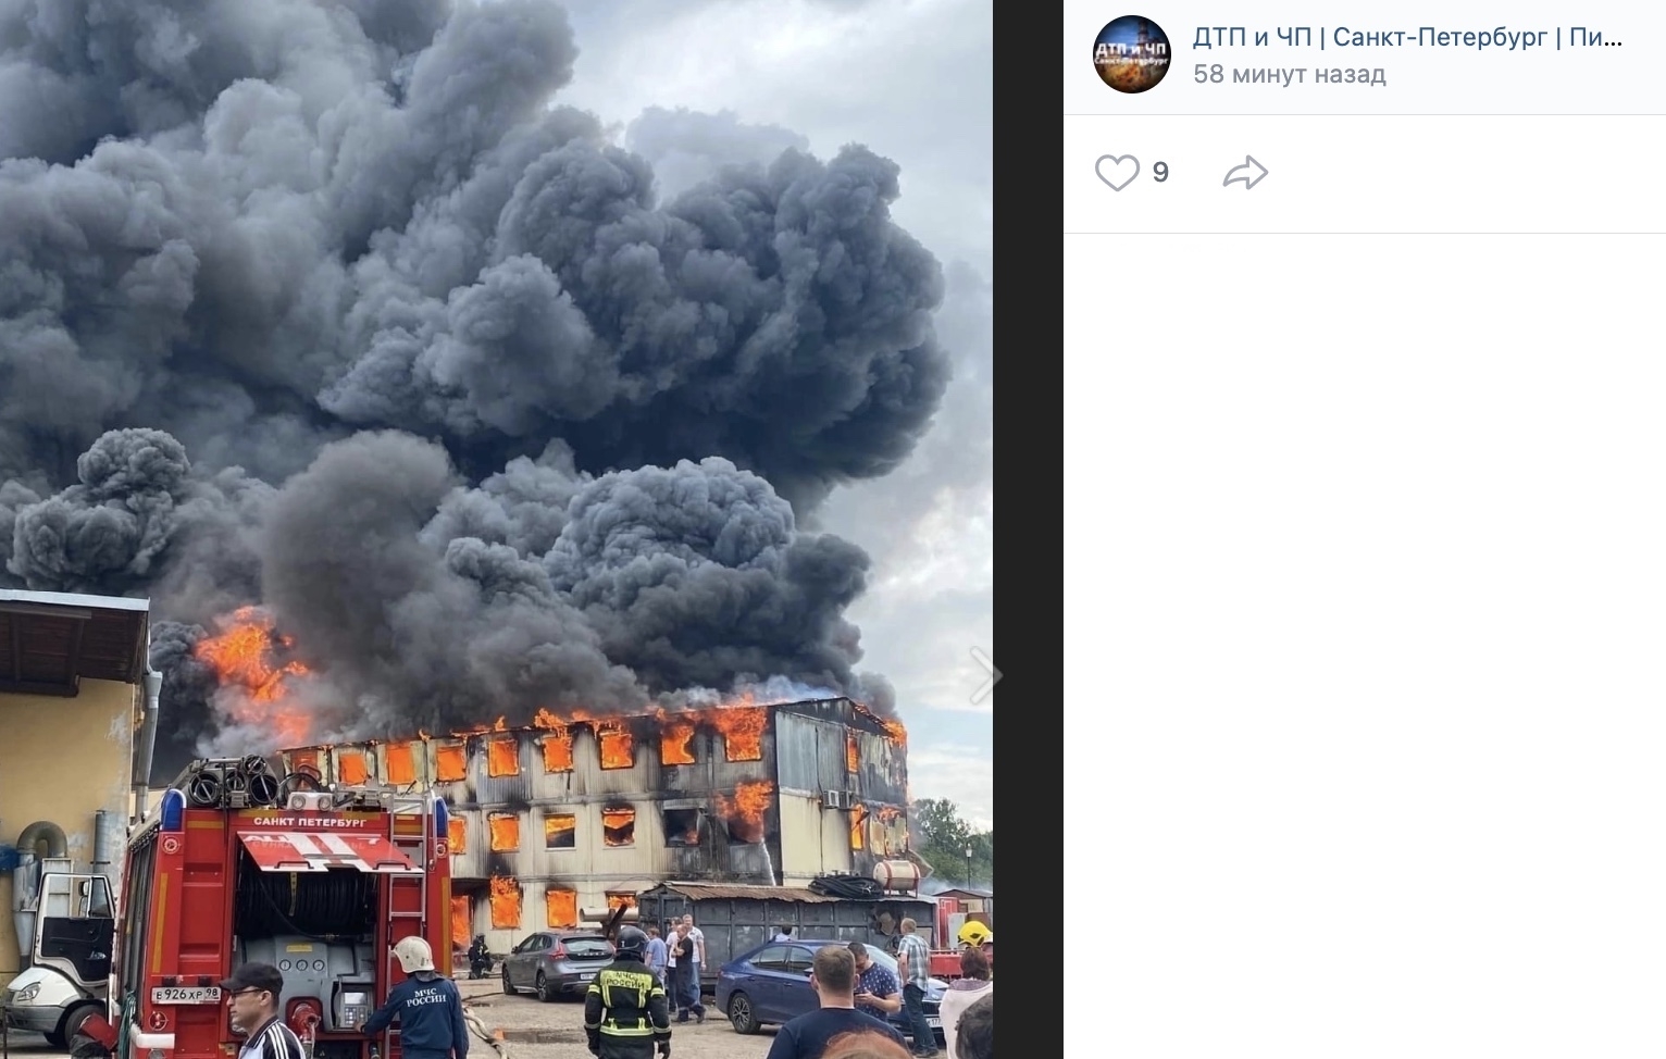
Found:
<path fill-rule="evenodd" d="M 137 684 L 150 599 L 0 589 L 0 693 L 73 696 L 80 681 Z"/>

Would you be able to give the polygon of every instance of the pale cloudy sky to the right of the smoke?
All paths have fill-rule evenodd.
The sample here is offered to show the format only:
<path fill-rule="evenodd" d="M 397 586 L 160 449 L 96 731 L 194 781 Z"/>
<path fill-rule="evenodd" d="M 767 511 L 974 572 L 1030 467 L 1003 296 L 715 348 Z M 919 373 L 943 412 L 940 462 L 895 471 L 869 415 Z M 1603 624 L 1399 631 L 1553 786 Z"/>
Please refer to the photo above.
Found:
<path fill-rule="evenodd" d="M 896 686 L 911 793 L 993 828 L 993 0 L 571 0 L 560 103 L 616 127 L 661 195 L 726 160 L 863 143 L 901 167 L 896 221 L 943 265 L 955 378 L 895 473 L 836 491 L 811 528 L 873 556 L 848 611 Z"/>

